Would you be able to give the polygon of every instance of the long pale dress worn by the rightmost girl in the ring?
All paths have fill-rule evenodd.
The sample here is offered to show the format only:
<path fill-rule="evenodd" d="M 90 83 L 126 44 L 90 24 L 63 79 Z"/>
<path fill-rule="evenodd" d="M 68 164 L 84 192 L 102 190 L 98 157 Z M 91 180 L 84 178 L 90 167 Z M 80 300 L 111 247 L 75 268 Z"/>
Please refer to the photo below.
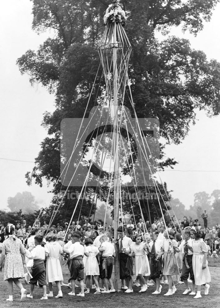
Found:
<path fill-rule="evenodd" d="M 198 241 L 192 240 L 193 248 L 193 273 L 195 277 L 195 284 L 201 286 L 206 282 L 211 281 L 211 276 L 208 268 L 208 261 L 206 259 L 206 268 L 202 269 L 204 252 L 208 252 L 206 243 L 200 238 Z"/>

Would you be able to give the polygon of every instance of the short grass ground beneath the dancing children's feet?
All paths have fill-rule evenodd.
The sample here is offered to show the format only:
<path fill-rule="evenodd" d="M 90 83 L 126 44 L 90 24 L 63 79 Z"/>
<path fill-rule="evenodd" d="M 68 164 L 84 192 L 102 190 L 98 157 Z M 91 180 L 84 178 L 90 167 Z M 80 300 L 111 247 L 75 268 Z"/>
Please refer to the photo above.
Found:
<path fill-rule="evenodd" d="M 211 260 L 212 261 L 212 260 Z M 210 262 L 212 263 L 212 262 Z M 166 297 L 163 296 L 168 291 L 168 286 L 163 285 L 160 295 L 151 294 L 156 288 L 155 286 L 150 286 L 145 293 L 138 293 L 140 288 L 134 287 L 134 293 L 123 294 L 112 293 L 112 294 L 101 294 L 93 295 L 95 290 L 90 290 L 90 294 L 85 294 L 84 298 L 78 298 L 77 296 L 69 296 L 69 289 L 65 286 L 62 287 L 63 298 L 56 299 L 48 298 L 47 301 L 40 301 L 42 296 L 42 289 L 35 287 L 34 299 L 26 298 L 24 302 L 20 302 L 20 293 L 16 286 L 14 286 L 13 292 L 13 302 L 7 302 L 8 298 L 7 282 L 3 280 L 3 271 L 0 272 L 0 307 L 18 307 L 18 308 L 46 308 L 46 307 L 77 307 L 77 308 L 113 308 L 113 307 L 194 307 L 194 308 L 219 308 L 219 294 L 220 294 L 220 262 L 213 262 L 214 266 L 210 266 L 210 273 L 212 281 L 210 282 L 209 295 L 204 295 L 204 287 L 202 287 L 202 298 L 194 299 L 190 295 L 182 295 L 185 290 L 184 285 L 177 284 L 177 291 L 175 295 Z M 216 266 L 217 265 L 217 266 Z M 64 282 L 67 283 L 69 276 L 68 268 L 63 268 L 63 278 Z M 173 277 L 174 282 L 176 278 Z M 21 280 L 23 283 L 23 279 Z M 23 284 L 27 289 L 27 293 L 30 293 L 30 286 Z M 76 288 L 76 293 L 79 293 L 79 288 Z M 49 290 L 48 290 L 49 291 Z M 54 296 L 57 294 L 57 288 L 54 285 Z"/>

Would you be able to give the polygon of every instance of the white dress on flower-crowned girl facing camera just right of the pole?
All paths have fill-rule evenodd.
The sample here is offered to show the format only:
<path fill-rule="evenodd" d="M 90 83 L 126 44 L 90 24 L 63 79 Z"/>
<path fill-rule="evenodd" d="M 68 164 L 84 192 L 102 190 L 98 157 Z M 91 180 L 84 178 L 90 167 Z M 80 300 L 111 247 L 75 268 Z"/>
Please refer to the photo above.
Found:
<path fill-rule="evenodd" d="M 141 242 L 139 245 L 136 245 L 135 242 L 131 244 L 131 250 L 135 254 L 135 275 L 142 274 L 143 276 L 150 275 L 150 265 L 148 257 L 145 254 L 145 243 Z"/>

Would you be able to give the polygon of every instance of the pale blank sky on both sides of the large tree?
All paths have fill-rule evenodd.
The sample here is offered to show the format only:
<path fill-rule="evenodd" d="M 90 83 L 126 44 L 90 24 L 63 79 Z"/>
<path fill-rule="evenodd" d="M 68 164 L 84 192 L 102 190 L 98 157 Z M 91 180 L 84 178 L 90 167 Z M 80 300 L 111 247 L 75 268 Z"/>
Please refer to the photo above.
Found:
<path fill-rule="evenodd" d="M 7 209 L 8 197 L 23 191 L 31 192 L 39 207 L 48 206 L 51 199 L 46 181 L 42 188 L 36 184 L 29 187 L 25 181 L 25 173 L 34 167 L 40 143 L 47 136 L 41 126 L 43 113 L 55 109 L 54 96 L 40 84 L 31 86 L 28 75 L 21 75 L 16 65 L 16 60 L 28 49 L 37 50 L 39 44 L 52 36 L 38 35 L 32 30 L 31 7 L 29 0 L 7 0 L 0 4 L 0 209 Z M 179 28 L 171 34 L 189 39 L 194 49 L 220 62 L 220 42 L 216 35 L 220 28 L 219 15 L 220 4 L 211 22 L 205 23 L 197 37 L 183 34 Z M 198 111 L 196 119 L 181 144 L 171 144 L 165 149 L 166 155 L 179 164 L 160 173 L 168 190 L 173 190 L 172 196 L 179 198 L 186 208 L 193 205 L 195 193 L 211 194 L 214 189 L 220 189 L 220 116 L 208 118 L 204 111 Z"/>

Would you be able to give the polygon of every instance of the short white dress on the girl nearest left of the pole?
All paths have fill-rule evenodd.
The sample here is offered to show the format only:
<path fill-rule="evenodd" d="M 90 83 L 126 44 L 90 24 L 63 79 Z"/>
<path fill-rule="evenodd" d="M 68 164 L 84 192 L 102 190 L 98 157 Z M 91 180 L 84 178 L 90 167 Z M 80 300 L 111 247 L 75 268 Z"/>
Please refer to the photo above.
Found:
<path fill-rule="evenodd" d="M 96 255 L 99 253 L 99 249 L 96 246 L 86 246 L 85 252 L 87 252 L 89 255 L 85 260 L 84 274 L 86 276 L 99 275 L 99 265 L 96 259 Z"/>

